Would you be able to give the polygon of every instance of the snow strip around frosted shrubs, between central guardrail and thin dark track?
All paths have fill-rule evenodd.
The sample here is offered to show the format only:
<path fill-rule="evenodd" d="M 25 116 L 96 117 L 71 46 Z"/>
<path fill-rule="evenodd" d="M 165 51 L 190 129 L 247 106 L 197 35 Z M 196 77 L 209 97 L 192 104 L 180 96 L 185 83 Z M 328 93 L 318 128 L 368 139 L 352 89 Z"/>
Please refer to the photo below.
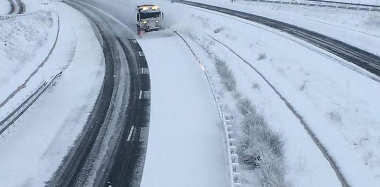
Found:
<path fill-rule="evenodd" d="M 310 139 L 299 120 L 288 110 L 286 105 L 278 98 L 278 95 L 267 85 L 267 83 L 256 73 L 254 73 L 240 59 L 228 51 L 225 47 L 213 42 L 211 38 L 202 33 L 191 32 L 192 37 L 199 37 L 195 40 L 193 47 L 197 45 L 206 45 L 208 50 L 227 62 L 232 74 L 237 80 L 236 93 L 227 92 L 220 88 L 222 100 L 226 103 L 227 110 L 235 113 L 238 132 L 237 139 L 240 143 L 243 139 L 243 121 L 244 116 L 238 114 L 238 97 L 245 97 L 254 103 L 254 107 L 259 115 L 263 115 L 264 120 L 270 128 L 279 133 L 285 141 L 284 161 L 285 165 L 280 166 L 285 169 L 285 186 L 294 187 L 321 187 L 321 186 L 340 186 L 340 182 L 331 170 L 329 163 L 323 157 L 314 142 Z M 218 80 L 218 74 L 215 72 L 214 60 L 207 57 L 202 49 L 196 50 L 197 54 L 203 56 L 202 62 L 206 64 L 206 69 L 212 74 L 213 79 Z M 220 81 L 218 81 L 220 82 Z M 237 103 L 236 103 L 237 102 Z M 241 102 L 241 101 L 240 101 Z M 254 138 L 254 137 L 251 137 Z M 302 141 L 300 141 L 302 139 Z M 240 145 L 241 146 L 241 145 Z M 241 149 L 241 148 L 239 148 Z M 239 153 L 241 154 L 241 153 Z M 239 155 L 240 157 L 242 155 Z M 250 168 L 249 165 L 242 163 L 243 186 L 252 187 L 260 186 L 255 179 L 262 176 L 258 173 L 260 169 Z M 275 179 L 271 179 L 275 181 Z M 273 186 L 273 185 L 272 185 Z M 277 187 L 274 185 L 273 187 Z"/>

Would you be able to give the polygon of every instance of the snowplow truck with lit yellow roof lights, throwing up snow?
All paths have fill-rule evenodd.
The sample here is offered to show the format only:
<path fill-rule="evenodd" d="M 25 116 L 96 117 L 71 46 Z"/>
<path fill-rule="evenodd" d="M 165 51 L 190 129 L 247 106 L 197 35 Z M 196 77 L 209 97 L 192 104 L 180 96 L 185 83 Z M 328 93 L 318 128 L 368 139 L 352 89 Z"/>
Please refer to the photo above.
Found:
<path fill-rule="evenodd" d="M 136 7 L 137 34 L 141 36 L 144 32 L 158 31 L 162 29 L 161 22 L 164 13 L 159 6 L 145 4 Z"/>

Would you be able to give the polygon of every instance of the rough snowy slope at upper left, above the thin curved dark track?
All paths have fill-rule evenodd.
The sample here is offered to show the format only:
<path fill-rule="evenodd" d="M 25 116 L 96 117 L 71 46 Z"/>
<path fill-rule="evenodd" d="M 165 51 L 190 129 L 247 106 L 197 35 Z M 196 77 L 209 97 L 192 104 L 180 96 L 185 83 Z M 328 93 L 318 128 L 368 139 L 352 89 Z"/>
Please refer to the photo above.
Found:
<path fill-rule="evenodd" d="M 41 48 L 49 48 L 57 32 L 51 12 L 15 17 L 0 21 L 0 90 L 12 89 L 6 86 L 12 79 L 28 76 L 40 62 L 36 55 Z M 50 37 L 52 36 L 52 37 Z M 30 73 L 21 75 L 28 68 Z M 20 77 L 22 79 L 22 77 Z M 3 100 L 3 94 L 0 94 Z"/>

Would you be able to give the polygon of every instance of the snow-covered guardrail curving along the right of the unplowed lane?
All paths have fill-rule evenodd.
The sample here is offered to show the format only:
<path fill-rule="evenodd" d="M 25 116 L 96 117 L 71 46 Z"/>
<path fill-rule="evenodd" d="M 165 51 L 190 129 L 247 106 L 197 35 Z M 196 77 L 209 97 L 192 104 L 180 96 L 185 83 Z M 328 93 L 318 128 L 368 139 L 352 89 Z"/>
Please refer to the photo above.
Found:
<path fill-rule="evenodd" d="M 238 163 L 238 155 L 236 153 L 236 145 L 235 145 L 235 139 L 233 138 L 233 131 L 232 131 L 232 125 L 230 124 L 231 120 L 233 119 L 233 116 L 231 114 L 226 114 L 222 112 L 221 105 L 219 103 L 219 98 L 215 92 L 215 89 L 213 87 L 211 76 L 207 73 L 204 64 L 200 61 L 198 56 L 195 54 L 195 52 L 190 47 L 189 43 L 185 40 L 185 38 L 178 33 L 177 31 L 174 31 L 175 34 L 177 34 L 181 40 L 188 46 L 193 56 L 197 59 L 199 65 L 202 67 L 204 74 L 206 75 L 207 82 L 210 86 L 211 92 L 213 94 L 215 104 L 218 108 L 218 114 L 219 119 L 221 121 L 223 131 L 224 131 L 224 138 L 225 138 L 225 144 L 227 148 L 227 157 L 228 157 L 228 171 L 229 171 L 229 177 L 230 177 L 230 187 L 240 187 L 240 176 L 239 173 L 239 163 Z"/>

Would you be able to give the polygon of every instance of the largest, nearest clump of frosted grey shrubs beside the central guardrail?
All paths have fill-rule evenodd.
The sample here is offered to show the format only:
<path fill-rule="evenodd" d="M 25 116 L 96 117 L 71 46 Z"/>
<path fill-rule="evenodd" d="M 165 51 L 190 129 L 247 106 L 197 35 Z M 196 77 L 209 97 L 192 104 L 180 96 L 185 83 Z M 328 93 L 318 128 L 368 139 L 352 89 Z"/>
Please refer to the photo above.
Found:
<path fill-rule="evenodd" d="M 269 128 L 264 117 L 257 114 L 248 98 L 242 98 L 237 108 L 243 115 L 242 137 L 238 151 L 240 161 L 248 169 L 256 171 L 262 187 L 285 187 L 284 141 L 282 136 Z"/>

